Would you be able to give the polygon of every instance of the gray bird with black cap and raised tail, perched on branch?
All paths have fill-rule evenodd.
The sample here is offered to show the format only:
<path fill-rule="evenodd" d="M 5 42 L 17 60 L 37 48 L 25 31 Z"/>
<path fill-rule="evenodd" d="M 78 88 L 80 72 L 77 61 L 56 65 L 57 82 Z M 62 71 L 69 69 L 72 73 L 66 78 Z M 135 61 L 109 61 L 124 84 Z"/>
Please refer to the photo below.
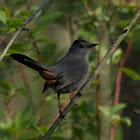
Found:
<path fill-rule="evenodd" d="M 38 71 L 46 80 L 43 92 L 53 88 L 58 96 L 59 112 L 60 94 L 71 93 L 79 89 L 89 74 L 88 55 L 93 46 L 83 39 L 75 40 L 68 53 L 53 68 L 46 67 L 22 54 L 10 56 L 18 62 Z"/>

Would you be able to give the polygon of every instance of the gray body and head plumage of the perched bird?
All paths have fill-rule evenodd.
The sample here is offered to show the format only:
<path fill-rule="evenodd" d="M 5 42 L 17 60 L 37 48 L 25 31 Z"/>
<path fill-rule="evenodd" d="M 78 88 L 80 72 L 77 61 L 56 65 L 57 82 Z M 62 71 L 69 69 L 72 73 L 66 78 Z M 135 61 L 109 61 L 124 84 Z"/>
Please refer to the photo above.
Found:
<path fill-rule="evenodd" d="M 80 45 L 84 47 L 81 48 Z M 90 48 L 87 45 L 90 44 L 84 40 L 76 40 L 68 53 L 51 69 L 57 77 L 56 91 L 70 93 L 84 84 L 89 74 Z"/>

